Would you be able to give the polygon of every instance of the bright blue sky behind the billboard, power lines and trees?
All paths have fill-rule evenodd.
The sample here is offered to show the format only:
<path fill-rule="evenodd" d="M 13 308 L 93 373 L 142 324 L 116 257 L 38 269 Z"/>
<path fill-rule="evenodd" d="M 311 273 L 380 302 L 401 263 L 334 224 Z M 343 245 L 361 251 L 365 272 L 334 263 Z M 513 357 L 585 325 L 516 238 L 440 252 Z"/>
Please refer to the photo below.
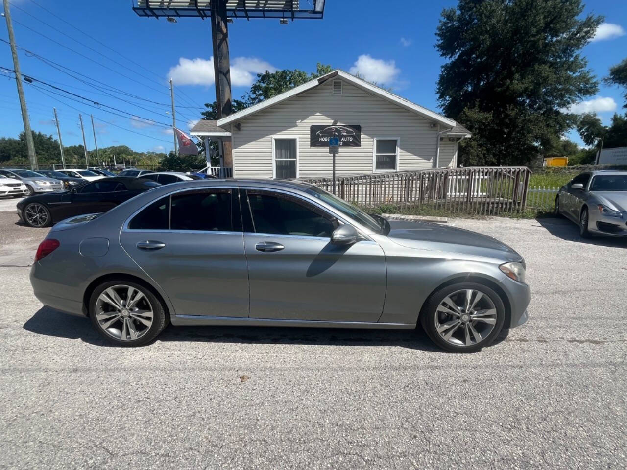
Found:
<path fill-rule="evenodd" d="M 359 70 L 398 95 L 438 110 L 435 86 L 443 61 L 434 48 L 435 30 L 441 9 L 455 6 L 456 1 L 389 1 L 384 12 L 379 4 L 377 0 L 327 0 L 324 19 L 287 25 L 276 19 L 236 19 L 229 24 L 233 96 L 245 93 L 258 71 L 313 71 L 320 61 Z M 64 145 L 82 144 L 80 110 L 89 149 L 93 149 L 89 118 L 93 113 L 98 147 L 169 151 L 173 143 L 171 130 L 165 127 L 171 123 L 167 80 L 174 78 L 177 127 L 187 130 L 199 118 L 196 107 L 214 100 L 209 21 L 140 18 L 130 0 L 12 0 L 11 5 L 16 43 L 61 66 L 20 51 L 22 73 L 110 107 L 90 107 L 80 98 L 75 97 L 76 102 L 58 97 L 41 83 L 33 85 L 44 90 L 24 83 L 31 127 L 56 137 L 52 110 L 56 107 Z M 583 51 L 594 73 L 603 77 L 627 56 L 627 2 L 587 1 L 588 12 L 604 15 L 608 23 L 598 32 L 598 40 Z M 4 21 L 0 29 L 0 38 L 8 40 Z M 0 43 L 0 66 L 13 69 L 5 43 Z M 85 78 L 77 72 L 102 83 L 97 84 L 100 90 L 80 81 Z M 0 137 L 16 137 L 23 125 L 15 81 L 6 75 L 0 73 Z M 598 95 L 577 105 L 577 110 L 596 111 L 608 123 L 614 111 L 623 112 L 622 106 L 621 90 L 602 84 Z M 569 137 L 581 142 L 576 132 Z"/>

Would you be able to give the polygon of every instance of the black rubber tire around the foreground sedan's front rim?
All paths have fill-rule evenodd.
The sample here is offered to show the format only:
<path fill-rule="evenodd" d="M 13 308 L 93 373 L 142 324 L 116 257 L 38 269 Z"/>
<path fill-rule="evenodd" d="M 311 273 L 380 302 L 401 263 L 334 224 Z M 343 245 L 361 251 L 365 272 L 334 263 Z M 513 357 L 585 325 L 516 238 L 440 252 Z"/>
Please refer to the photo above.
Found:
<path fill-rule="evenodd" d="M 438 313 L 438 307 L 445 300 L 445 298 L 453 296 L 458 291 L 464 290 L 479 291 L 483 294 L 483 296 L 487 296 L 489 298 L 494 306 L 494 310 L 496 310 L 495 323 L 493 323 L 493 327 L 490 333 L 483 337 L 482 340 L 477 341 L 476 338 L 473 338 L 475 340 L 475 343 L 473 343 L 472 345 L 455 345 L 445 340 L 443 337 L 441 337 L 440 333 L 438 333 L 436 328 L 436 321 L 440 320 L 436 320 L 436 315 L 442 315 L 441 313 Z M 487 300 L 483 299 L 483 301 Z M 428 298 L 426 303 L 424 303 L 423 309 L 420 314 L 420 323 L 423 326 L 424 332 L 427 333 L 428 337 L 431 338 L 431 340 L 438 347 L 450 352 L 473 353 L 481 350 L 483 347 L 489 346 L 501 332 L 501 330 L 503 329 L 503 323 L 505 323 L 505 305 L 503 305 L 503 300 L 500 298 L 500 296 L 486 285 L 479 283 L 457 283 L 441 288 Z M 471 320 L 469 323 L 477 326 L 476 320 Z M 483 324 L 483 322 L 481 323 Z M 468 327 L 464 326 L 463 328 Z M 465 330 L 459 330 L 459 332 L 462 334 L 463 331 Z M 473 336 L 471 335 L 471 337 Z"/>

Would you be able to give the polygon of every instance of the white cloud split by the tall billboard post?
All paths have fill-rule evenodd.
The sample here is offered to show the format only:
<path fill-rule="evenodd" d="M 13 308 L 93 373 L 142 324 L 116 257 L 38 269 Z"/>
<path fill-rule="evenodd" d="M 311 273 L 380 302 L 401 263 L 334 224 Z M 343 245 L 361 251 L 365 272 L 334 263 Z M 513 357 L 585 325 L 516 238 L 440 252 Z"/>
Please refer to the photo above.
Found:
<path fill-rule="evenodd" d="M 276 71 L 270 63 L 255 57 L 236 57 L 231 61 L 231 86 L 250 86 L 255 81 L 257 73 Z M 209 59 L 179 58 L 168 72 L 175 85 L 213 85 L 214 84 L 213 56 Z"/>

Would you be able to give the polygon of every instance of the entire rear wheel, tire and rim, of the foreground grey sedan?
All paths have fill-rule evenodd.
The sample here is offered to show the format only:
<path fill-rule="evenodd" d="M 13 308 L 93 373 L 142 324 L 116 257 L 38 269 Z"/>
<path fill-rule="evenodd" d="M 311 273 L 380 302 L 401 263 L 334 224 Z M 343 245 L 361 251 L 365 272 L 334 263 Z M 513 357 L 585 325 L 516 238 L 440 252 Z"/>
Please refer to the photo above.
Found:
<path fill-rule="evenodd" d="M 166 309 L 145 286 L 130 281 L 108 281 L 92 293 L 89 315 L 93 326 L 118 346 L 142 346 L 167 325 Z"/>

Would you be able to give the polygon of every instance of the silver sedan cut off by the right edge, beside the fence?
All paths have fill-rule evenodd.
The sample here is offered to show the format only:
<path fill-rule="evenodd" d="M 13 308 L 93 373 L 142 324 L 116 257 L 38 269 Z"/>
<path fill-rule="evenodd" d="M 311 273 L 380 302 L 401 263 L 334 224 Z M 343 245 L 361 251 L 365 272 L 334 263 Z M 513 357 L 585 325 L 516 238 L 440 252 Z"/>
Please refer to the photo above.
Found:
<path fill-rule="evenodd" d="M 579 225 L 579 234 L 627 236 L 627 172 L 587 171 L 562 186 L 555 199 L 556 215 Z"/>

